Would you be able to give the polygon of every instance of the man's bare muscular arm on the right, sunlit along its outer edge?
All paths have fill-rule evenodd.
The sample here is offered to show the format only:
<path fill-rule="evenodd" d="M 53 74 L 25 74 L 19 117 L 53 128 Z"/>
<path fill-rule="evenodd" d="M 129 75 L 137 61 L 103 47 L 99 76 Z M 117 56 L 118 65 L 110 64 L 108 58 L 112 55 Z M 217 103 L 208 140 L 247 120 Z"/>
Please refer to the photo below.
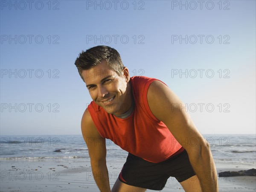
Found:
<path fill-rule="evenodd" d="M 148 88 L 148 105 L 154 116 L 165 123 L 172 135 L 186 149 L 189 161 L 198 176 L 204 192 L 218 191 L 217 172 L 209 144 L 186 113 L 181 100 L 160 81 L 153 81 Z M 184 141 L 195 140 L 189 145 Z"/>

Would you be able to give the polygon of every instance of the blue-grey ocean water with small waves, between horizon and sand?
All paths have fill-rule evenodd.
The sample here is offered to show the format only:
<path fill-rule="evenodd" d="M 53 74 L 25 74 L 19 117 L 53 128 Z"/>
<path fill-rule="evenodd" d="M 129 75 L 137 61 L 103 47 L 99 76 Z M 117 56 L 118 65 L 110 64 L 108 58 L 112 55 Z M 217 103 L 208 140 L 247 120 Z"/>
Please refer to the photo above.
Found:
<path fill-rule="evenodd" d="M 204 135 L 211 146 L 215 163 L 239 163 L 256 166 L 256 135 Z M 183 144 L 195 145 L 195 140 L 183 140 Z M 111 140 L 106 140 L 107 160 L 124 159 L 128 152 Z M 81 135 L 27 135 L 1 136 L 0 160 L 41 159 L 90 159 L 87 146 Z"/>

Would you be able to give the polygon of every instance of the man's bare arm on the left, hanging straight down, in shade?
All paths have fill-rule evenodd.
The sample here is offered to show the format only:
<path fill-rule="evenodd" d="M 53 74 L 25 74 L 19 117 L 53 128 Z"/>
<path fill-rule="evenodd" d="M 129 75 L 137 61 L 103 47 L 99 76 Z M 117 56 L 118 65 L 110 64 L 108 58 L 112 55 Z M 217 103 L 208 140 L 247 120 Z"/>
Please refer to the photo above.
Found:
<path fill-rule="evenodd" d="M 106 141 L 96 129 L 87 109 L 81 120 L 81 131 L 88 147 L 94 180 L 101 192 L 110 192 L 106 165 Z"/>

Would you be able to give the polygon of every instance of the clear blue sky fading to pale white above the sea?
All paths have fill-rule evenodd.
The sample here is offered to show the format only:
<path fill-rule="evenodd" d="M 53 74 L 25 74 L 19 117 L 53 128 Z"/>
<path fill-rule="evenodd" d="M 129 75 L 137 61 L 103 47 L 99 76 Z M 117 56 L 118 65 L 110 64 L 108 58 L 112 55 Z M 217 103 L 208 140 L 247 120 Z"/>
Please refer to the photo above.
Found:
<path fill-rule="evenodd" d="M 255 134 L 255 0 L 0 3 L 1 135 L 81 134 L 74 61 L 97 45 L 164 81 L 202 134 Z"/>

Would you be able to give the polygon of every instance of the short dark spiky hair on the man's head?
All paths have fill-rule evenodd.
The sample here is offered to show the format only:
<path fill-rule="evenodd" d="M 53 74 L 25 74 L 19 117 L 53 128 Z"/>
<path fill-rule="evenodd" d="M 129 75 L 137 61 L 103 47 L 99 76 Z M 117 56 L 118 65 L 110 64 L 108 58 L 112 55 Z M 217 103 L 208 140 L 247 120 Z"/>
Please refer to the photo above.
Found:
<path fill-rule="evenodd" d="M 83 81 L 82 71 L 89 70 L 102 61 L 106 61 L 111 70 L 115 71 L 117 75 L 122 76 L 124 65 L 116 49 L 108 46 L 96 46 L 87 49 L 85 52 L 82 51 L 79 57 L 76 58 L 75 65 Z"/>

